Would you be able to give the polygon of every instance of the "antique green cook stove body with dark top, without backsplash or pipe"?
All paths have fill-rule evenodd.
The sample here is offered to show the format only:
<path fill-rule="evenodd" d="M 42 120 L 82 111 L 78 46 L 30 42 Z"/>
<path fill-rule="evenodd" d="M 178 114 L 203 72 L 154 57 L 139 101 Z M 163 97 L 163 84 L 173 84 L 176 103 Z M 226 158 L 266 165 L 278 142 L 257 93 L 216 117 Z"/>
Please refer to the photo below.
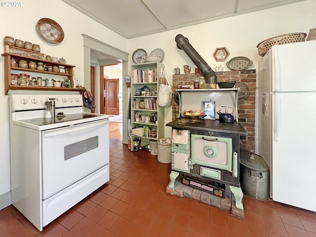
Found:
<path fill-rule="evenodd" d="M 169 188 L 179 177 L 183 184 L 225 198 L 225 188 L 243 209 L 239 182 L 239 136 L 244 128 L 237 123 L 219 120 L 177 118 L 166 124 L 172 127 L 172 161 Z"/>

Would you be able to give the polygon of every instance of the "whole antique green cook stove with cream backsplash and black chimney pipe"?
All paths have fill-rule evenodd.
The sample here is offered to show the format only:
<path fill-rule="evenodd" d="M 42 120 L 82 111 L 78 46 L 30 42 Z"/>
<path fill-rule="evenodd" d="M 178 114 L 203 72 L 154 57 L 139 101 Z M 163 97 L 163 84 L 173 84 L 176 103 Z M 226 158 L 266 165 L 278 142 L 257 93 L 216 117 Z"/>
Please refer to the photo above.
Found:
<path fill-rule="evenodd" d="M 197 53 L 189 40 L 182 35 L 175 38 L 177 47 L 183 50 L 199 68 L 206 80 L 216 77 L 215 72 Z M 172 161 L 170 184 L 175 180 L 225 198 L 226 186 L 234 194 L 236 207 L 243 209 L 239 183 L 239 136 L 247 134 L 238 123 L 238 88 L 227 89 L 178 89 L 180 111 L 204 110 L 203 103 L 214 103 L 212 119 L 177 118 L 166 126 L 172 127 Z M 234 122 L 220 122 L 215 108 L 235 108 Z M 215 118 L 215 119 L 214 119 Z M 214 120 L 213 120 L 214 119 Z M 181 174 L 181 176 L 180 176 Z"/>

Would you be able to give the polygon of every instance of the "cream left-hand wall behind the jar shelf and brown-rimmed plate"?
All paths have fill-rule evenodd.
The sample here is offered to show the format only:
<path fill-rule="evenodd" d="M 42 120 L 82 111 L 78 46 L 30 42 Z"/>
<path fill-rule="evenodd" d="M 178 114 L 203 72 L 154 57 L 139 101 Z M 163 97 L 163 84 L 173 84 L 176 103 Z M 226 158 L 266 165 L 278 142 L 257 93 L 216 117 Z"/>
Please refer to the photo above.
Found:
<path fill-rule="evenodd" d="M 81 34 L 127 52 L 126 39 L 60 0 L 26 0 L 22 3 L 21 7 L 0 7 L 0 39 L 11 36 L 14 39 L 30 41 L 39 44 L 42 53 L 65 58 L 67 64 L 76 66 L 74 72 L 75 76 L 79 77 L 79 84 L 83 85 L 84 81 Z M 36 25 L 41 18 L 50 18 L 62 27 L 65 38 L 61 43 L 52 44 L 40 37 Z M 4 95 L 3 68 L 3 57 L 0 57 L 0 209 L 1 195 L 10 191 L 9 109 L 8 97 Z"/>

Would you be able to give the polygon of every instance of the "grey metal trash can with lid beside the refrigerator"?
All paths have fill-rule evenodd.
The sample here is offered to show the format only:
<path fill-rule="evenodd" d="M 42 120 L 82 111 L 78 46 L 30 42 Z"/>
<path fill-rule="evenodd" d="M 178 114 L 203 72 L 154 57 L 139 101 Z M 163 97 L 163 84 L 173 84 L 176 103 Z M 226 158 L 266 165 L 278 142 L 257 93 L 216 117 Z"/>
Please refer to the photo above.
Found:
<path fill-rule="evenodd" d="M 257 200 L 269 199 L 269 166 L 265 160 L 247 152 L 240 152 L 240 186 L 242 192 Z"/>

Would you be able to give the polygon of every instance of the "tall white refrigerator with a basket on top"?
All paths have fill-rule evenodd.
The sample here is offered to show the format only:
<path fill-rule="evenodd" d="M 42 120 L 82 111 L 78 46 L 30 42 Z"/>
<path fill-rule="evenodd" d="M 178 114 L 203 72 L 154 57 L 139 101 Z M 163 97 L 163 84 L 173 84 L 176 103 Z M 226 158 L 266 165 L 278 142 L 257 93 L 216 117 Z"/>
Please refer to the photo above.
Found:
<path fill-rule="evenodd" d="M 273 200 L 316 211 L 316 40 L 274 45 L 259 62 L 256 153 Z"/>

